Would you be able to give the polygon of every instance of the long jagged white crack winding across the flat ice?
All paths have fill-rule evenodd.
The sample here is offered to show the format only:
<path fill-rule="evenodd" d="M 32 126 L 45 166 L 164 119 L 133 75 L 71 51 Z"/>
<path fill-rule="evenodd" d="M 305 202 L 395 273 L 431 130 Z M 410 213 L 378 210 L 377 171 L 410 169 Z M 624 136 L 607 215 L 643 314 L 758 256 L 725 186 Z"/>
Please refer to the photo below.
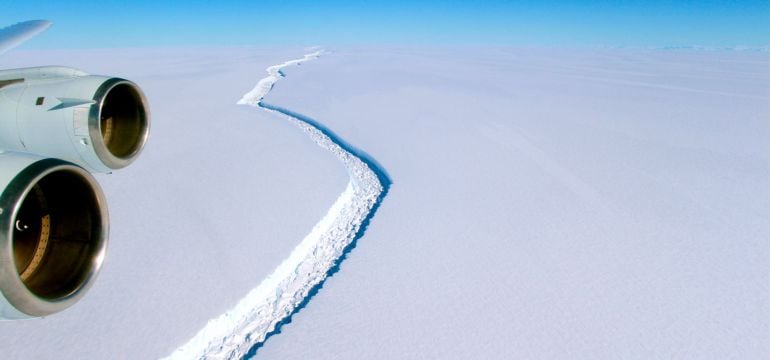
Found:
<path fill-rule="evenodd" d="M 318 58 L 322 50 L 267 68 L 268 76 L 243 96 L 238 104 L 278 113 L 331 151 L 345 165 L 350 182 L 326 215 L 294 248 L 272 274 L 251 290 L 233 309 L 212 319 L 189 342 L 168 359 L 242 358 L 265 340 L 284 318 L 290 316 L 309 292 L 323 281 L 329 270 L 355 239 L 362 223 L 383 193 L 383 184 L 362 159 L 345 150 L 315 126 L 261 104 L 273 85 L 290 65 Z"/>

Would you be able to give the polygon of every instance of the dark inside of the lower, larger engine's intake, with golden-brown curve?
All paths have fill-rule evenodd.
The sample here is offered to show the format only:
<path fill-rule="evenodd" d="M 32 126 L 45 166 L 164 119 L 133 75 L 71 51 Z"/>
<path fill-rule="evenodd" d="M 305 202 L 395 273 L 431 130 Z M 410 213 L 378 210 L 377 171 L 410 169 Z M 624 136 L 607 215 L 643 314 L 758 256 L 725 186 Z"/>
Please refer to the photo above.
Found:
<path fill-rule="evenodd" d="M 106 224 L 94 190 L 80 174 L 59 170 L 41 178 L 13 221 L 16 270 L 32 293 L 56 300 L 88 280 Z"/>

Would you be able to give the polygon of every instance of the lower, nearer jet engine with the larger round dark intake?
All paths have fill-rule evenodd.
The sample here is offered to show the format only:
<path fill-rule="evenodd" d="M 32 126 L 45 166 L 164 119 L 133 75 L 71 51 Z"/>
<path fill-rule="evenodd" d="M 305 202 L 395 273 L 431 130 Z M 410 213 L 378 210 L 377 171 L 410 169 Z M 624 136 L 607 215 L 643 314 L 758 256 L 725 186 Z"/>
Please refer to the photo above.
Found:
<path fill-rule="evenodd" d="M 0 318 L 46 316 L 77 302 L 102 266 L 104 194 L 83 168 L 0 154 Z"/>

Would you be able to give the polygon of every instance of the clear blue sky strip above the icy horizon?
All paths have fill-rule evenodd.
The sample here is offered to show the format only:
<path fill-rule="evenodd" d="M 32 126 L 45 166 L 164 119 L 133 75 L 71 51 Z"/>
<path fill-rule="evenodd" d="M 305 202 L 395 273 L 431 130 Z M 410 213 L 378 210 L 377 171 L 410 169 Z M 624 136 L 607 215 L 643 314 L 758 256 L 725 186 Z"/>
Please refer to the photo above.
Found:
<path fill-rule="evenodd" d="M 770 44 L 770 0 L 2 0 L 1 6 L 0 26 L 54 22 L 27 48 Z"/>

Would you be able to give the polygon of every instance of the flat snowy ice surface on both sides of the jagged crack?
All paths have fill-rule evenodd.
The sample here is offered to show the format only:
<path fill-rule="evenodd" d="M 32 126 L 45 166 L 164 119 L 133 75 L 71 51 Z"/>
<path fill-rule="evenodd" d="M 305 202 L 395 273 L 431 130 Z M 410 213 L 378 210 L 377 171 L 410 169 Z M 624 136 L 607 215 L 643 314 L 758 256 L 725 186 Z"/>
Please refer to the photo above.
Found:
<path fill-rule="evenodd" d="M 770 358 L 770 54 L 328 50 L 251 103 L 333 129 L 392 185 L 257 358 Z M 234 105 L 304 53 L 0 58 L 135 80 L 154 115 L 137 163 L 99 177 L 112 229 L 95 286 L 0 323 L 2 358 L 166 356 L 278 281 L 353 197 L 312 129 Z"/>

